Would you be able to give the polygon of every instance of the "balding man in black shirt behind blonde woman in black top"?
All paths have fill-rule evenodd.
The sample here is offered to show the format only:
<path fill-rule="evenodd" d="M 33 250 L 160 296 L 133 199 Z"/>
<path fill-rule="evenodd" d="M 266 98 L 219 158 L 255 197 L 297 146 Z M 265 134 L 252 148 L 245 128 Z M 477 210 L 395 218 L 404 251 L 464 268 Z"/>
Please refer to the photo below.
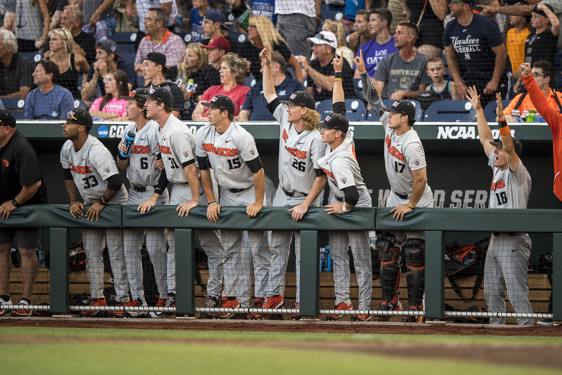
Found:
<path fill-rule="evenodd" d="M 71 52 L 84 56 L 88 64 L 92 64 L 96 60 L 96 39 L 94 39 L 92 34 L 84 33 L 81 30 L 82 26 L 84 26 L 83 13 L 73 5 L 66 6 L 61 15 L 61 27 L 69 30 L 72 38 L 74 38 Z M 45 44 L 43 48 L 45 58 L 49 56 L 50 49 L 49 43 Z"/>

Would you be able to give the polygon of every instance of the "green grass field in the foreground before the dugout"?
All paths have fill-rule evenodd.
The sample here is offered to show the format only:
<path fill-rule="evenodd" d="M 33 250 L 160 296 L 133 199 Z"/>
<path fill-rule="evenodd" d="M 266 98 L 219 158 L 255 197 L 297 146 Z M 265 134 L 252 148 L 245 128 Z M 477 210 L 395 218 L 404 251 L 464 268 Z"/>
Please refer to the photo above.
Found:
<path fill-rule="evenodd" d="M 264 345 L 250 344 L 256 341 Z M 0 327 L 0 358 L 2 373 L 29 374 L 560 373 L 465 360 L 391 358 L 330 346 L 380 342 L 516 347 L 561 345 L 562 338 Z M 318 345 L 332 349 L 319 350 Z"/>

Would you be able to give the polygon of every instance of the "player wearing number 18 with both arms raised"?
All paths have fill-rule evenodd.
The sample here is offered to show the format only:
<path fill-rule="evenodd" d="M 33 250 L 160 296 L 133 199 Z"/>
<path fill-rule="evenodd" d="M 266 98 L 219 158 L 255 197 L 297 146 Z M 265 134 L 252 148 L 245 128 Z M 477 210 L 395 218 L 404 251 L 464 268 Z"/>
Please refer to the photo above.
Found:
<path fill-rule="evenodd" d="M 501 94 L 496 94 L 500 141 L 494 142 L 484 117 L 476 87 L 469 87 L 470 102 L 476 110 L 480 143 L 493 170 L 490 191 L 491 209 L 526 209 L 531 192 L 531 176 L 519 157 L 523 146 L 511 137 L 505 121 Z M 484 266 L 484 300 L 492 313 L 505 313 L 505 290 L 516 313 L 533 313 L 529 302 L 527 264 L 531 239 L 527 233 L 494 232 Z M 517 319 L 518 324 L 532 326 L 533 319 Z M 505 318 L 490 318 L 490 324 L 505 324 Z"/>

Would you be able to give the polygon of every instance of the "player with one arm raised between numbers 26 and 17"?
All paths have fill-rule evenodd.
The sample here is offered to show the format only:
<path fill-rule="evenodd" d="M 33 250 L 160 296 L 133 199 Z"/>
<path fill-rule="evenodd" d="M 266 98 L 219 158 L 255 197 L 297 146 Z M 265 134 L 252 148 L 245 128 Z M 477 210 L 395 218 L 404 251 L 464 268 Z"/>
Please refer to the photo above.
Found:
<path fill-rule="evenodd" d="M 333 193 L 330 204 L 326 207 L 328 214 L 345 214 L 353 207 L 370 207 L 371 196 L 361 177 L 361 169 L 355 157 L 355 146 L 351 135 L 347 134 L 349 121 L 346 119 L 346 103 L 342 87 L 343 57 L 335 57 L 332 64 L 334 91 L 332 106 L 334 112 L 326 116 L 318 125 L 325 146 L 325 156 L 318 164 L 328 177 L 328 186 Z M 347 255 L 351 245 L 355 263 L 355 276 L 359 284 L 359 309 L 371 309 L 371 290 L 373 271 L 371 268 L 371 246 L 367 231 L 329 231 L 330 254 L 334 268 L 334 291 L 336 293 L 335 310 L 351 310 L 350 299 L 350 266 Z M 342 318 L 343 314 L 327 315 L 327 320 Z M 351 320 L 368 321 L 369 315 L 351 315 Z"/>

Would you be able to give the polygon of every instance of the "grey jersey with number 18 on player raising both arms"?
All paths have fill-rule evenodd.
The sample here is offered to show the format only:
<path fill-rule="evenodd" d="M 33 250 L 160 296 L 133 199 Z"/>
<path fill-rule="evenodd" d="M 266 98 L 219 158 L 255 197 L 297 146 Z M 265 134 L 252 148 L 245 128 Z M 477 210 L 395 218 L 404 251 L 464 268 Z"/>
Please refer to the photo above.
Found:
<path fill-rule="evenodd" d="M 526 209 L 531 192 L 531 175 L 519 159 L 519 167 L 515 171 L 511 168 L 500 170 L 493 166 L 496 156 L 490 152 L 488 165 L 492 167 L 493 178 L 490 188 L 491 209 Z"/>

